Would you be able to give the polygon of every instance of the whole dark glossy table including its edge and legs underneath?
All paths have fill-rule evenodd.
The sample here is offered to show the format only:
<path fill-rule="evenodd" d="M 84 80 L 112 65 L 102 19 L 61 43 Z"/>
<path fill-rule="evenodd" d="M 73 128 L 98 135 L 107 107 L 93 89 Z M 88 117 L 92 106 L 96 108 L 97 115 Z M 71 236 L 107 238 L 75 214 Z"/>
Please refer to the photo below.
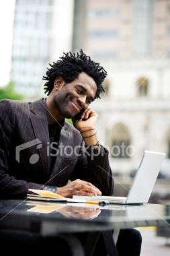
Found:
<path fill-rule="evenodd" d="M 95 241 L 102 233 L 108 255 L 118 255 L 115 245 L 120 229 L 169 226 L 170 205 L 146 203 L 100 206 L 29 199 L 0 200 L 0 220 L 0 228 L 6 232 L 10 230 L 42 236 L 66 235 L 67 242 L 74 245 L 73 255 L 75 253 L 80 256 L 92 255 Z M 89 238 L 83 248 L 72 236 L 79 232 L 89 232 Z"/>

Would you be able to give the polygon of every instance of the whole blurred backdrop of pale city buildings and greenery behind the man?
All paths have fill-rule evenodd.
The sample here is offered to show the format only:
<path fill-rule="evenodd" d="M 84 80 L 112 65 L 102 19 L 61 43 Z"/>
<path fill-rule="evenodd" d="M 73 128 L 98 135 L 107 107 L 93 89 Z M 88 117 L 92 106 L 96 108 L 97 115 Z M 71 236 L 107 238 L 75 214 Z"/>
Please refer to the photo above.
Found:
<path fill-rule="evenodd" d="M 0 99 L 46 97 L 42 77 L 63 52 L 105 68 L 91 107 L 115 195 L 127 195 L 144 150 L 165 152 L 150 202 L 170 204 L 170 0 L 1 1 L 0 32 Z"/>

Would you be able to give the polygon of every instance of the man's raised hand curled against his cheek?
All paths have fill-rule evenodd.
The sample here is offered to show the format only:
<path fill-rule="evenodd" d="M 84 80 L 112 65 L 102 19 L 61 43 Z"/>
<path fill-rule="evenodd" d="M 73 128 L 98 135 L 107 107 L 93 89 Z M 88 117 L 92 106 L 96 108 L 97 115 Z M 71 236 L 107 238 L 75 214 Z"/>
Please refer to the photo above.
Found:
<path fill-rule="evenodd" d="M 82 121 L 77 121 L 75 117 L 73 117 L 73 125 L 79 131 L 85 131 L 87 129 L 93 129 L 95 127 L 95 123 L 97 122 L 97 114 L 91 110 L 91 108 L 86 108 L 82 115 Z"/>

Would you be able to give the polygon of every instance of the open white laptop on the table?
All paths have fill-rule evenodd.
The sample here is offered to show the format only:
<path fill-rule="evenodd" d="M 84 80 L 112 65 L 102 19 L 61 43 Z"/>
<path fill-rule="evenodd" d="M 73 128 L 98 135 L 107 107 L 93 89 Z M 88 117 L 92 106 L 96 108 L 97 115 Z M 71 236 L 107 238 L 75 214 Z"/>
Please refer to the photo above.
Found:
<path fill-rule="evenodd" d="M 142 204 L 147 203 L 155 181 L 157 180 L 159 170 L 165 158 L 164 153 L 152 152 L 145 150 L 142 156 L 142 160 L 138 166 L 138 170 L 134 177 L 133 183 L 130 187 L 127 197 L 113 197 L 113 196 L 102 196 L 97 197 L 86 197 L 85 199 L 97 201 L 109 201 L 110 203 L 116 204 Z M 83 198 L 79 195 L 73 195 L 73 198 Z"/>

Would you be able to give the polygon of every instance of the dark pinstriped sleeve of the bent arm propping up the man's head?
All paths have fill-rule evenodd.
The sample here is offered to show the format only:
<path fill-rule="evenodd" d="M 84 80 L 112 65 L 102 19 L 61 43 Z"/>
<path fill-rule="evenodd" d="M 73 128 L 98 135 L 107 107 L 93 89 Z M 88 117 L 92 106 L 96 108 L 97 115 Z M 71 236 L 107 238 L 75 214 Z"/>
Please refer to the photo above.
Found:
<path fill-rule="evenodd" d="M 81 179 L 97 187 L 102 195 L 113 195 L 114 179 L 108 160 L 108 150 L 101 146 L 99 152 L 85 151 L 83 146 L 79 152 L 79 159 L 71 174 L 71 181 Z"/>

